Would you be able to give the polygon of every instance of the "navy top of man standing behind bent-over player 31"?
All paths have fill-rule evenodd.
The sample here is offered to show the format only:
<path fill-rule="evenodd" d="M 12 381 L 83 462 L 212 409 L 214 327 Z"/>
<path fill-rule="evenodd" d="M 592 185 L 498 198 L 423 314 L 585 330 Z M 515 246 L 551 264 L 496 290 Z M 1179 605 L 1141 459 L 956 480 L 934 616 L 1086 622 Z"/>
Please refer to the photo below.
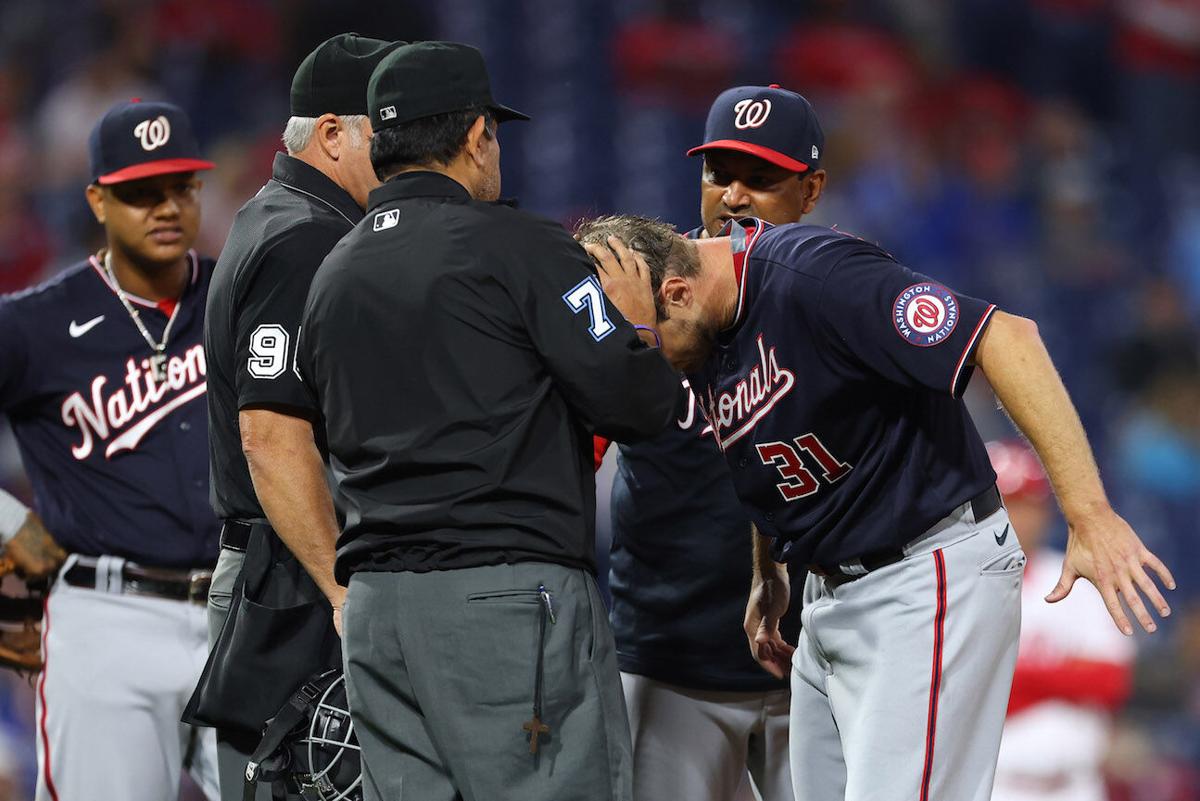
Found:
<path fill-rule="evenodd" d="M 695 395 L 676 423 L 622 445 L 612 484 L 612 627 L 625 673 L 696 689 L 787 686 L 763 670 L 742 630 L 750 520 Z M 799 595 L 782 621 L 799 636 Z"/>

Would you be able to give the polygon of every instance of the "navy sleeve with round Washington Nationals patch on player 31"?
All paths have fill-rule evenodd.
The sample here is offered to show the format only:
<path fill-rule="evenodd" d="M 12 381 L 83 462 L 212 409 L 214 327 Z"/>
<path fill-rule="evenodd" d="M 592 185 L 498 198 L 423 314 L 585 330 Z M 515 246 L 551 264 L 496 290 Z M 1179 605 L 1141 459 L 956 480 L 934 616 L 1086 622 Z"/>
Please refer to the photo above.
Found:
<path fill-rule="evenodd" d="M 869 242 L 842 236 L 826 258 L 818 320 L 833 347 L 906 386 L 959 397 L 995 305 L 908 270 Z"/>

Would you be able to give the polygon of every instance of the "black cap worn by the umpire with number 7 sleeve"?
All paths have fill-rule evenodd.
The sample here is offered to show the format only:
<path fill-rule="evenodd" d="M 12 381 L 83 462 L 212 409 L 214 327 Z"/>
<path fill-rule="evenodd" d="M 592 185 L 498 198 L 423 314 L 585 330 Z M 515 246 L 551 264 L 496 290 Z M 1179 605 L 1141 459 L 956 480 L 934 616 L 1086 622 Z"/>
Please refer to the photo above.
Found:
<path fill-rule="evenodd" d="M 376 131 L 474 106 L 499 122 L 529 119 L 492 100 L 484 54 L 457 42 L 414 42 L 389 53 L 371 76 L 367 106 Z"/>

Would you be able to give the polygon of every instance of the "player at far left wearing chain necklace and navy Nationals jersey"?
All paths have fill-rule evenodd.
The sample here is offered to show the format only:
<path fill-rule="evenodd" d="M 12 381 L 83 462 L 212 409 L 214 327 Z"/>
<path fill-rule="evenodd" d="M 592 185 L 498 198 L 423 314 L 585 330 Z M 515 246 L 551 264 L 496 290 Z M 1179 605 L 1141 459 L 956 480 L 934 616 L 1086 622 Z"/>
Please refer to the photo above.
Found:
<path fill-rule="evenodd" d="M 46 604 L 37 799 L 216 799 L 211 731 L 179 722 L 208 652 L 217 553 L 200 335 L 212 261 L 191 249 L 199 157 L 168 103 L 91 132 L 88 203 L 107 245 L 0 301 L 0 409 L 67 552 Z M 16 555 L 14 555 L 16 559 Z"/>

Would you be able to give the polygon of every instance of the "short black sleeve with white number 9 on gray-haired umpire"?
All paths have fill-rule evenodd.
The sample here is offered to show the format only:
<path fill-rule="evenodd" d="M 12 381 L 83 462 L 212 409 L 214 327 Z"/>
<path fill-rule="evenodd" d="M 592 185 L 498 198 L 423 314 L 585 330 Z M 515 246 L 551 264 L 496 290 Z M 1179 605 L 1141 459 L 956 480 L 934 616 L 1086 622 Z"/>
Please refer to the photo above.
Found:
<path fill-rule="evenodd" d="M 308 285 L 338 231 L 307 227 L 272 242 L 239 290 L 234 321 L 238 408 L 286 406 L 316 414 L 312 393 L 296 373 L 300 317 Z"/>

